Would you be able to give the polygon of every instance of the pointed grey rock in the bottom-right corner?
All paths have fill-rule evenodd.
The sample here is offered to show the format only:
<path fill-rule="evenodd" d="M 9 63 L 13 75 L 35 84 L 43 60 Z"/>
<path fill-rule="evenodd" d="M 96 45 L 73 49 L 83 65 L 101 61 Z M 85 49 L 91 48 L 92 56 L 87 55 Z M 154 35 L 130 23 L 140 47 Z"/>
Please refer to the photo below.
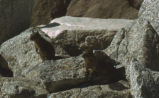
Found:
<path fill-rule="evenodd" d="M 159 72 L 144 68 L 136 59 L 129 66 L 131 93 L 135 98 L 159 97 Z"/>

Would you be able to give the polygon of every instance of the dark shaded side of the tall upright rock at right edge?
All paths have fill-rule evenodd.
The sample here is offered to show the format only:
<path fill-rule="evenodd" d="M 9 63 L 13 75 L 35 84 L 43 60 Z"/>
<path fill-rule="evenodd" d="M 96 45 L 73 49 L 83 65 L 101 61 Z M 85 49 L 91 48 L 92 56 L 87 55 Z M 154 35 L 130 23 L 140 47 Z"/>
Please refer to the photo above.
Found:
<path fill-rule="evenodd" d="M 159 35 L 151 22 L 147 21 L 144 39 L 144 63 L 147 68 L 159 71 Z"/>

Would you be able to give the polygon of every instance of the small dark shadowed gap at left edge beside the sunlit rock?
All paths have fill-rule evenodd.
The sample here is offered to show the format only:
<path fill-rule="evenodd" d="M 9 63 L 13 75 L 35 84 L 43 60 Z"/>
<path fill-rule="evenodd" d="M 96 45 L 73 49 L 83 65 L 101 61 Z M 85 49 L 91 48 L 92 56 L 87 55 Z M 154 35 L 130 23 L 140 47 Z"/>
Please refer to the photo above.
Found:
<path fill-rule="evenodd" d="M 0 55 L 0 74 L 4 77 L 13 77 L 13 72 L 9 69 L 7 61 Z"/>

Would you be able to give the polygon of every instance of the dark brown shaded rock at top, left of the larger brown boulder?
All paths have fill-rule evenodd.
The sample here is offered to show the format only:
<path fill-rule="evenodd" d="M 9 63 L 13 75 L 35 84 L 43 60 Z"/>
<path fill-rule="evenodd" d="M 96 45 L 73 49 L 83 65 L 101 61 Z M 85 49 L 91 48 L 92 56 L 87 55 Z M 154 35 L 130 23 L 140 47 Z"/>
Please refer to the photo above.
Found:
<path fill-rule="evenodd" d="M 51 19 L 64 16 L 71 0 L 34 0 L 31 26 L 47 24 Z"/>

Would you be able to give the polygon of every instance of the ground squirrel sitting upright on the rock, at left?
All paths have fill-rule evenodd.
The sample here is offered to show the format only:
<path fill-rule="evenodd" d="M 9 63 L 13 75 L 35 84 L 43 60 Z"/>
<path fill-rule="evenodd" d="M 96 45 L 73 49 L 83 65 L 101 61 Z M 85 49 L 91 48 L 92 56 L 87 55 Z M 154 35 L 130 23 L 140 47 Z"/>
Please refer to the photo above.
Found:
<path fill-rule="evenodd" d="M 39 31 L 41 31 L 40 28 L 33 28 L 30 40 L 34 41 L 36 51 L 40 54 L 40 57 L 43 61 L 54 60 L 55 49 L 53 45 L 49 41 L 44 39 Z"/>

